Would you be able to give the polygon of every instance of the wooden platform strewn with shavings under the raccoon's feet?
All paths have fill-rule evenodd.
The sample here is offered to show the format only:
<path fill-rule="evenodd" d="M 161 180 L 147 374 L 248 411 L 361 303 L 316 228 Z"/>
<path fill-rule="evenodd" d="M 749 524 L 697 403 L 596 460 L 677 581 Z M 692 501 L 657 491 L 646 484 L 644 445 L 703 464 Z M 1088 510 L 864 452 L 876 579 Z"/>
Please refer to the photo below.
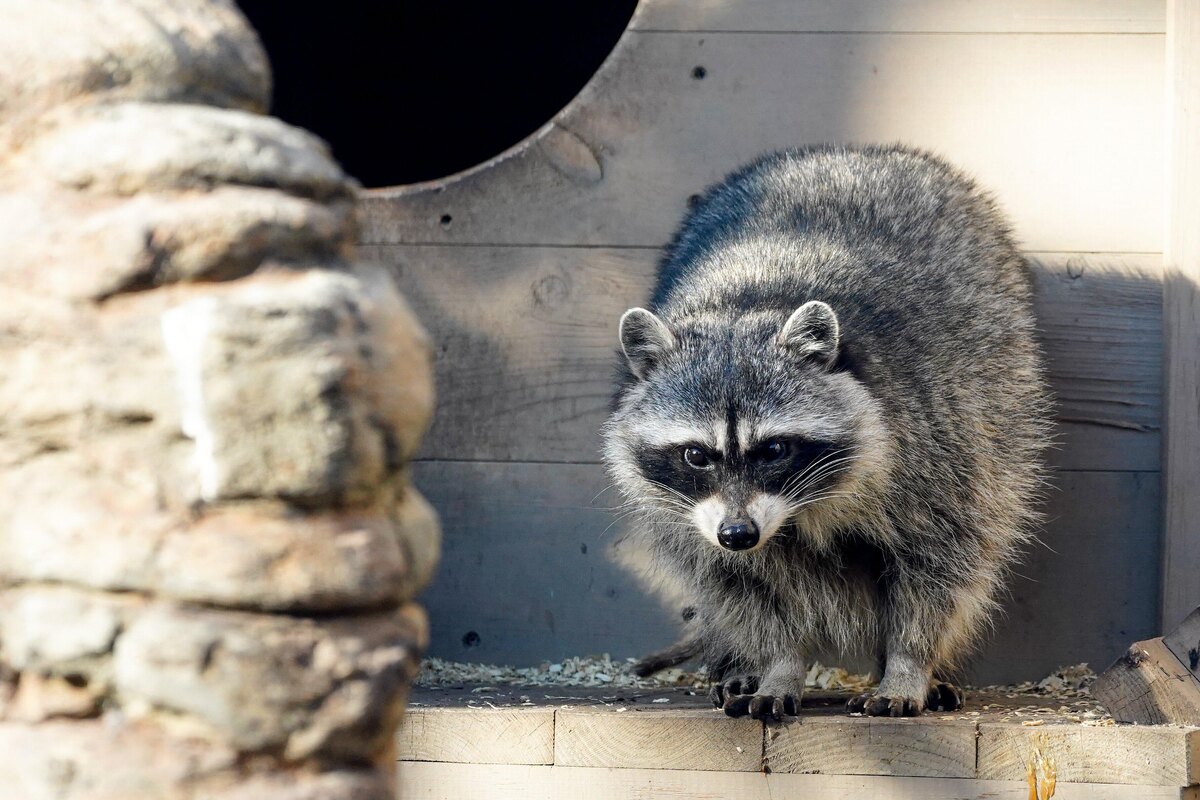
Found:
<path fill-rule="evenodd" d="M 689 690 L 418 688 L 400 792 L 1027 800 L 1038 763 L 1056 772 L 1054 798 L 1200 800 L 1200 728 L 1098 724 L 1032 694 L 972 692 L 962 711 L 911 720 L 851 717 L 845 698 L 810 693 L 798 718 L 763 726 Z"/>

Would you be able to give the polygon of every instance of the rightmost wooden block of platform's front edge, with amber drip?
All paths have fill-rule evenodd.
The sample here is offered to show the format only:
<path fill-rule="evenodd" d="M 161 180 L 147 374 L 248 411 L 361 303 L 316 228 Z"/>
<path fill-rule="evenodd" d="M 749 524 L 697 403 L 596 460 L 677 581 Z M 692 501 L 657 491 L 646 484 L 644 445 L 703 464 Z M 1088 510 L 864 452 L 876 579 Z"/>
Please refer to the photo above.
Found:
<path fill-rule="evenodd" d="M 1200 780 L 1200 730 L 1177 727 L 979 726 L 978 777 L 1015 781 L 1040 750 L 1064 783 L 1190 786 Z"/>

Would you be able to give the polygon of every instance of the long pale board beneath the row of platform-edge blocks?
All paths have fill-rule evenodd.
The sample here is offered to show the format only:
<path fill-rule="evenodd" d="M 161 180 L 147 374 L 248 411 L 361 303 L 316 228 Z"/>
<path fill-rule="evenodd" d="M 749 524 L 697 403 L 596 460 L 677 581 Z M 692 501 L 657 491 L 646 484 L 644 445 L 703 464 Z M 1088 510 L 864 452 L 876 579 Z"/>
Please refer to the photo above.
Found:
<path fill-rule="evenodd" d="M 1028 800 L 1020 781 L 965 778 L 853 777 L 842 775 L 764 775 L 685 770 L 602 769 L 587 766 L 497 766 L 401 762 L 398 796 L 403 800 Z M 1139 787 L 1060 783 L 1055 800 L 1178 800 L 1176 786 Z M 1183 795 L 1189 798 L 1192 795 Z"/>

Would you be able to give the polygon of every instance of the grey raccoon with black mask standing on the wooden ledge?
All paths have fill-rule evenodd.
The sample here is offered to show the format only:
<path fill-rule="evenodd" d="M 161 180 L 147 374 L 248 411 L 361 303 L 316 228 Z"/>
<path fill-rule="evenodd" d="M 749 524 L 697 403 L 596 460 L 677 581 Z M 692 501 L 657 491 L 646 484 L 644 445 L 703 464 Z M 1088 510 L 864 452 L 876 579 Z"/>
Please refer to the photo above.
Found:
<path fill-rule="evenodd" d="M 1027 264 L 992 199 L 904 146 L 764 156 L 709 188 L 619 324 L 604 456 L 731 716 L 797 714 L 817 652 L 851 712 L 948 682 L 1032 536 L 1049 438 Z"/>

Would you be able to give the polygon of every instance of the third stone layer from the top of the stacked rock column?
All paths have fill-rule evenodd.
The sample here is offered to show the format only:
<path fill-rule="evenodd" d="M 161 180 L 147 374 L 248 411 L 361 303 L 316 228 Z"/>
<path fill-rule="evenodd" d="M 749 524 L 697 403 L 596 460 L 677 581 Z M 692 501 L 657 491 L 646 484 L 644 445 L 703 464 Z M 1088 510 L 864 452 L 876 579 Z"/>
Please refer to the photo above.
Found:
<path fill-rule="evenodd" d="M 0 194 L 0 281 L 70 300 L 184 281 L 228 281 L 274 263 L 348 254 L 349 203 L 253 187 L 142 196 Z"/>

